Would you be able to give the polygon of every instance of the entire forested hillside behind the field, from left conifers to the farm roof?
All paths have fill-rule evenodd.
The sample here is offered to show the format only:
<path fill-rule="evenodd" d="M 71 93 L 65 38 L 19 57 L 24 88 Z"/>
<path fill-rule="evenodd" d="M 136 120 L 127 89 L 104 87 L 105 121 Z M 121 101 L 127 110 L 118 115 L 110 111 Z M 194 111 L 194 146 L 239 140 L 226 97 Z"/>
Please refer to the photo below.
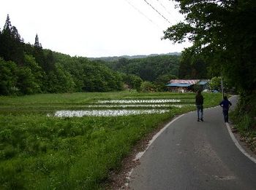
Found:
<path fill-rule="evenodd" d="M 177 53 L 133 56 L 116 60 L 71 57 L 45 50 L 35 35 L 34 44 L 24 43 L 10 17 L 0 28 L 0 95 L 59 92 L 108 92 L 136 89 L 164 91 L 176 78 L 206 78 L 186 67 Z M 200 71 L 200 70 L 198 70 Z"/>

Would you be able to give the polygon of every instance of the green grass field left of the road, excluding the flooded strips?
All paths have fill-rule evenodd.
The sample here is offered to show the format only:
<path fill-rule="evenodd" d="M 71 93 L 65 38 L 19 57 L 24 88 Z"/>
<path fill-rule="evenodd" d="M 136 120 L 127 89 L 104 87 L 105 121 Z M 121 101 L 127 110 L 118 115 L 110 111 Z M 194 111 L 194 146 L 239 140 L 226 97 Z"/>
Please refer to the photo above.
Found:
<path fill-rule="evenodd" d="M 205 107 L 217 105 L 221 100 L 220 94 L 203 96 Z M 102 189 L 110 170 L 120 167 L 121 160 L 138 140 L 174 116 L 195 110 L 194 98 L 193 93 L 170 92 L 0 97 L 0 189 Z M 170 99 L 178 102 L 165 103 Z M 99 103 L 102 100 L 125 101 Z M 128 100 L 131 105 L 140 104 L 143 108 L 129 107 Z M 124 105 L 128 105 L 126 110 L 150 110 L 157 105 L 154 109 L 166 112 L 54 116 L 59 110 L 106 110 L 106 105 L 111 106 L 108 110 L 121 109 L 118 106 Z"/>

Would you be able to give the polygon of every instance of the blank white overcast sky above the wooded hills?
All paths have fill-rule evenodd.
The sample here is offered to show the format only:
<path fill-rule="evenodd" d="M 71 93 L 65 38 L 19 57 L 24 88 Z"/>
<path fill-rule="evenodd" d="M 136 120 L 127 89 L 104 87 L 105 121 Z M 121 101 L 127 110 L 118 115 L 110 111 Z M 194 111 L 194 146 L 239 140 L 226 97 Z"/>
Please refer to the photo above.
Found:
<path fill-rule="evenodd" d="M 174 3 L 146 1 L 1 0 L 0 28 L 9 14 L 26 43 L 34 44 L 38 34 L 44 49 L 89 58 L 181 52 L 188 47 L 161 40 L 163 31 L 183 20 Z"/>

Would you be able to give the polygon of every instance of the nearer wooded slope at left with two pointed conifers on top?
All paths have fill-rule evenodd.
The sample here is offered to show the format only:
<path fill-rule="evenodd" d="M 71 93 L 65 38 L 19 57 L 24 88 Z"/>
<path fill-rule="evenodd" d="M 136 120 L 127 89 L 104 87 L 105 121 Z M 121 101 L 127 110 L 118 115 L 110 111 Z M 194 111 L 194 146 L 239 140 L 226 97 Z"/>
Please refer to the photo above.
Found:
<path fill-rule="evenodd" d="M 9 15 L 0 31 L 0 79 L 0 95 L 123 88 L 120 74 L 97 61 L 44 50 L 38 35 L 34 45 L 25 44 Z"/>

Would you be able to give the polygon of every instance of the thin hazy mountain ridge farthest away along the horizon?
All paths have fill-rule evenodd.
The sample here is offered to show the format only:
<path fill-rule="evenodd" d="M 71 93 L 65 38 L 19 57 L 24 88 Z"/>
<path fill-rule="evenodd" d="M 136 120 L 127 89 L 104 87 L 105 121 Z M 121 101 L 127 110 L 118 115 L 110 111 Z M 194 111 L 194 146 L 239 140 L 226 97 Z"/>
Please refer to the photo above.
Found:
<path fill-rule="evenodd" d="M 162 53 L 162 54 L 151 54 L 151 55 L 121 55 L 121 56 L 112 56 L 112 57 L 100 57 L 100 58 L 89 58 L 89 60 L 105 60 L 105 61 L 116 61 L 120 58 L 127 58 L 127 59 L 140 59 L 140 58 L 148 58 L 148 57 L 155 57 L 159 55 L 181 55 L 180 52 L 170 52 L 170 53 Z"/>

